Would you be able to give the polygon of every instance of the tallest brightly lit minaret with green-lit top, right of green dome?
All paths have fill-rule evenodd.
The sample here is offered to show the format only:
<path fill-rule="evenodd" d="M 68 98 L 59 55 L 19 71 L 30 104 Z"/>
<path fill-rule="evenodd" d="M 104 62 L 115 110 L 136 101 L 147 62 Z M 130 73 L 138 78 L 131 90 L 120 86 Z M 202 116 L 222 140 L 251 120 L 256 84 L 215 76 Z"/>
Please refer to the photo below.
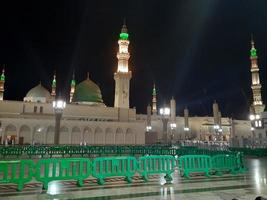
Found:
<path fill-rule="evenodd" d="M 132 78 L 132 72 L 128 69 L 128 60 L 130 54 L 128 52 L 128 46 L 130 41 L 128 40 L 127 27 L 124 22 L 120 37 L 119 37 L 119 51 L 117 53 L 118 69 L 114 73 L 115 80 L 115 101 L 114 107 L 116 108 L 129 108 L 129 95 L 130 95 L 130 79 Z"/>

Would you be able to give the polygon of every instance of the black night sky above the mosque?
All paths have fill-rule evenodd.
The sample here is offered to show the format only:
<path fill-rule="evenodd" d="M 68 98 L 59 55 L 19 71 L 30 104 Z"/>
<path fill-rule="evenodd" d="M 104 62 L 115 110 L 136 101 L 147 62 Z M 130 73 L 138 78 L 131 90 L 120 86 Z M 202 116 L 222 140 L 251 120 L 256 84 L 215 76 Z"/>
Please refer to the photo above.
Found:
<path fill-rule="evenodd" d="M 68 94 L 90 77 L 113 106 L 117 40 L 123 18 L 130 34 L 130 104 L 138 113 L 151 101 L 172 96 L 177 112 L 210 115 L 219 102 L 223 116 L 246 118 L 250 89 L 250 35 L 259 56 L 263 100 L 267 102 L 267 1 L 20 1 L 1 3 L 0 63 L 7 64 L 5 98 L 22 100 L 39 81 Z M 19 1 L 18 1 L 19 2 Z M 265 81 L 265 82 L 264 82 Z"/>

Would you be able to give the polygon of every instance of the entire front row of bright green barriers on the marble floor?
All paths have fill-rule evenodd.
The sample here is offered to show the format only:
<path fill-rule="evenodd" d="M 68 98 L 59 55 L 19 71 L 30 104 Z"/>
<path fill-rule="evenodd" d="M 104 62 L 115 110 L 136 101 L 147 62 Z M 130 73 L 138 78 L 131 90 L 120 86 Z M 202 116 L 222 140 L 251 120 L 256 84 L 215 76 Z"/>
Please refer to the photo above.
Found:
<path fill-rule="evenodd" d="M 178 165 L 176 165 L 178 161 Z M 135 157 L 98 157 L 86 158 L 51 158 L 40 159 L 36 164 L 32 160 L 0 161 L 0 183 L 14 183 L 18 190 L 22 190 L 25 183 L 33 178 L 43 183 L 43 188 L 48 189 L 48 184 L 55 180 L 76 180 L 82 186 L 84 180 L 90 176 L 97 178 L 98 184 L 104 184 L 105 178 L 123 176 L 127 182 L 132 182 L 132 177 L 138 173 L 145 181 L 150 174 L 165 174 L 166 181 L 172 180 L 171 174 L 178 166 L 180 174 L 189 178 L 192 173 L 244 171 L 243 154 L 237 155 L 185 155 L 176 159 L 170 155 L 143 156 L 136 160 Z"/>

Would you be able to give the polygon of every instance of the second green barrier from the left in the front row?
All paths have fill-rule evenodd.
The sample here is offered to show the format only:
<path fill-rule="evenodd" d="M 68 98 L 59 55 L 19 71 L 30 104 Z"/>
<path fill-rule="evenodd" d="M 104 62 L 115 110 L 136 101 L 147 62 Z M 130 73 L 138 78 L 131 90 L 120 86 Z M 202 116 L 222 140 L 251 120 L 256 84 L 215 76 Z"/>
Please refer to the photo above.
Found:
<path fill-rule="evenodd" d="M 91 175 L 91 161 L 86 158 L 43 159 L 36 163 L 35 178 L 48 189 L 48 183 L 55 180 L 77 180 L 83 186 L 84 179 Z"/>

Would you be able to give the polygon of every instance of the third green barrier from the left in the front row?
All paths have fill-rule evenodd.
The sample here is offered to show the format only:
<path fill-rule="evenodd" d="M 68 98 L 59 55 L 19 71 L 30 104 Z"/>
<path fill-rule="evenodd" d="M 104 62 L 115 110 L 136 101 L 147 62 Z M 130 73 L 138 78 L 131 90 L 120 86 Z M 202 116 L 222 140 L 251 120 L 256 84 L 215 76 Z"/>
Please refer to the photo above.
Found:
<path fill-rule="evenodd" d="M 99 157 L 93 161 L 92 175 L 101 185 L 105 183 L 105 178 L 113 176 L 124 176 L 125 180 L 131 183 L 136 169 L 134 157 Z"/>

